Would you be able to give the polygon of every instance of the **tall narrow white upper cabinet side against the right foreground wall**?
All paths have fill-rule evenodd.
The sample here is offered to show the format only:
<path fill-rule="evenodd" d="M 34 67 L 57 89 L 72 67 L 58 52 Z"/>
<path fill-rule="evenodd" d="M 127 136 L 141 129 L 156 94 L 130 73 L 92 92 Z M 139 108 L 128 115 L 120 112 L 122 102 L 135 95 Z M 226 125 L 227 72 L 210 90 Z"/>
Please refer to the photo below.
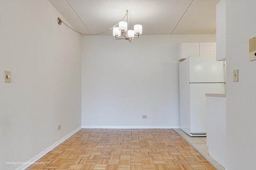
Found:
<path fill-rule="evenodd" d="M 216 47 L 216 60 L 226 61 L 226 0 L 216 5 Z"/>

